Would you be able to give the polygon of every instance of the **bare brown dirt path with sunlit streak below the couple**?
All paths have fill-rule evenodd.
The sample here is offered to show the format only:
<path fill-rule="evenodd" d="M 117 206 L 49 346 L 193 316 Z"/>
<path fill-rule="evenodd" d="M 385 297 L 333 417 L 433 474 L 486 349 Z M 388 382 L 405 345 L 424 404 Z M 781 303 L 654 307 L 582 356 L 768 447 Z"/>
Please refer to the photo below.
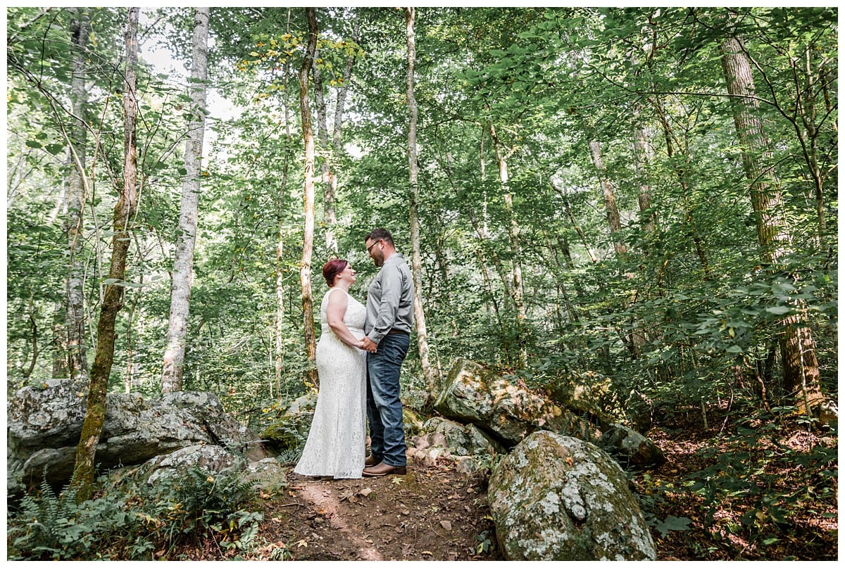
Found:
<path fill-rule="evenodd" d="M 452 461 L 386 478 L 287 477 L 264 500 L 254 560 L 501 560 L 485 480 Z"/>

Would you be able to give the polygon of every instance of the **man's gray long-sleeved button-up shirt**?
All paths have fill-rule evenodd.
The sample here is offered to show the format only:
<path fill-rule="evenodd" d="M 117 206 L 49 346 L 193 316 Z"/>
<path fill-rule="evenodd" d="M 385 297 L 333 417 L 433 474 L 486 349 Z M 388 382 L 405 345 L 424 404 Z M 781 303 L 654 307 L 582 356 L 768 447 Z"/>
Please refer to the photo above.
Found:
<path fill-rule="evenodd" d="M 367 292 L 364 333 L 378 343 L 390 330 L 411 333 L 414 325 L 414 281 L 405 258 L 392 254 L 384 260 Z"/>

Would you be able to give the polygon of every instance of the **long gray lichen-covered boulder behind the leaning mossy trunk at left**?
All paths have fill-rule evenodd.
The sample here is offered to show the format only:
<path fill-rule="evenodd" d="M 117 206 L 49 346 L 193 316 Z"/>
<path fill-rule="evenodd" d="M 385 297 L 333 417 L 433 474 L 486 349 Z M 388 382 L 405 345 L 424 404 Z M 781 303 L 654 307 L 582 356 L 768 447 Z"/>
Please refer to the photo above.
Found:
<path fill-rule="evenodd" d="M 87 406 L 85 382 L 48 381 L 25 387 L 7 405 L 8 490 L 68 483 Z M 254 434 L 210 392 L 173 392 L 158 398 L 110 393 L 96 463 L 102 470 L 140 464 L 191 445 L 219 445 L 252 460 L 266 457 Z"/>

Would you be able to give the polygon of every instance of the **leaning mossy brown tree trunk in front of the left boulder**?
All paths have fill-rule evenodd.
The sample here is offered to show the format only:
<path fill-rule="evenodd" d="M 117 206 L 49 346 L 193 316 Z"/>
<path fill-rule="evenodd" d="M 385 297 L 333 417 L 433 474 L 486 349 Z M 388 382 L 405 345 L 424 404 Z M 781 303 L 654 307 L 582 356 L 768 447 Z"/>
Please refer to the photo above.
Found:
<path fill-rule="evenodd" d="M 135 214 L 138 178 L 138 145 L 135 139 L 137 101 L 135 98 L 135 68 L 138 65 L 139 8 L 128 8 L 126 25 L 126 72 L 123 85 L 123 188 L 114 206 L 114 236 L 112 262 L 108 284 L 97 323 L 97 345 L 91 367 L 85 421 L 76 448 L 76 463 L 70 487 L 77 490 L 77 499 L 90 497 L 94 483 L 95 456 L 106 418 L 106 392 L 114 360 L 114 323 L 123 307 L 124 276 L 129 249 L 129 224 Z"/>

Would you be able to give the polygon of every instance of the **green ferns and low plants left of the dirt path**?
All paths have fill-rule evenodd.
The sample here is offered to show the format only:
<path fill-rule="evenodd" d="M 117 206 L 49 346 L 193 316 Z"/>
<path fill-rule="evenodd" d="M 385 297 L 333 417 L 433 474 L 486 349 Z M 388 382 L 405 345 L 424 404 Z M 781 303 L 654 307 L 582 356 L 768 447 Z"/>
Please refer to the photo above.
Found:
<path fill-rule="evenodd" d="M 94 500 L 76 502 L 48 483 L 21 501 L 9 520 L 9 560 L 164 560 L 188 539 L 214 538 L 221 550 L 244 549 L 263 515 L 243 505 L 252 487 L 234 470 L 191 467 L 179 478 L 155 486 L 115 488 Z"/>

